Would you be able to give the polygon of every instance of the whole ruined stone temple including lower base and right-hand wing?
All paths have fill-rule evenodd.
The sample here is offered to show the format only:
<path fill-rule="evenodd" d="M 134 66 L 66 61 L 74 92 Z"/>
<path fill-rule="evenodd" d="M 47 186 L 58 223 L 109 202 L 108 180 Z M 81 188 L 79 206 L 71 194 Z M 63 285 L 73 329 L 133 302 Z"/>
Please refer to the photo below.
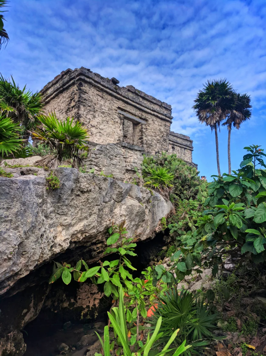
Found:
<path fill-rule="evenodd" d="M 193 141 L 170 131 L 172 108 L 132 85 L 118 86 L 116 78 L 104 78 L 90 69 L 67 69 L 41 91 L 47 111 L 59 119 L 82 121 L 89 129 L 92 149 L 86 170 L 113 174 L 128 180 L 140 171 L 143 154 L 176 153 L 190 165 Z"/>

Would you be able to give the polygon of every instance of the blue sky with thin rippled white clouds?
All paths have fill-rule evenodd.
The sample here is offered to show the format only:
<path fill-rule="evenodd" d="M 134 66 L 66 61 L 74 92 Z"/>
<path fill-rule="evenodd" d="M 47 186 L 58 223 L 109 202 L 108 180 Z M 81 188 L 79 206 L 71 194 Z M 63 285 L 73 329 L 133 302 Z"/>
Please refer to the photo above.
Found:
<path fill-rule="evenodd" d="M 62 70 L 90 68 L 172 105 L 172 130 L 194 140 L 193 161 L 217 174 L 215 137 L 191 109 L 207 79 L 251 95 L 251 120 L 232 131 L 232 168 L 243 147 L 265 145 L 265 0 L 11 0 L 0 71 L 40 90 Z M 227 131 L 219 134 L 227 172 Z"/>

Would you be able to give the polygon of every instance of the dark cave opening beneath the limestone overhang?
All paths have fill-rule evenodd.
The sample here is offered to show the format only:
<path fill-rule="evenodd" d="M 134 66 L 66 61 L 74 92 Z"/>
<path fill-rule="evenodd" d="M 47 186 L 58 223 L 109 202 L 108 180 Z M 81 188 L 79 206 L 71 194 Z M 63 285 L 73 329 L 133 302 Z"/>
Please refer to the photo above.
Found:
<path fill-rule="evenodd" d="M 141 277 L 141 272 L 149 266 L 151 261 L 156 260 L 158 253 L 166 245 L 166 237 L 164 235 L 163 232 L 158 232 L 153 239 L 137 243 L 135 247 L 137 256 L 131 256 L 132 265 L 137 268 L 137 271 L 133 271 L 134 277 Z M 70 254 L 72 257 L 78 256 L 73 261 L 78 260 L 86 248 L 87 246 L 80 246 L 75 250 L 66 251 L 55 260 L 67 260 L 66 256 L 70 256 Z M 111 260 L 116 259 L 115 255 L 109 255 L 102 258 L 101 261 L 110 260 L 110 256 Z M 84 335 L 90 335 L 87 340 L 88 345 L 90 342 L 95 341 L 95 325 L 107 324 L 107 311 L 110 310 L 112 299 L 111 297 L 102 296 L 96 307 L 94 305 L 89 312 L 84 312 L 86 303 L 92 302 L 93 299 L 96 300 L 96 304 L 98 303 L 94 294 L 97 294 L 96 290 L 93 289 L 94 284 L 87 281 L 78 283 L 72 280 L 66 286 L 60 279 L 48 287 L 47 279 L 51 273 L 52 266 L 51 263 L 47 265 L 43 266 L 43 269 L 45 269 L 43 275 L 46 276 L 44 283 L 50 290 L 45 297 L 38 316 L 22 330 L 24 341 L 27 344 L 27 350 L 24 355 L 56 356 L 60 353 L 74 356 L 86 355 L 87 349 L 80 343 L 80 340 Z M 97 265 L 97 263 L 89 267 L 94 265 Z M 98 287 L 100 292 L 103 292 L 103 284 L 98 285 Z M 87 298 L 88 293 L 91 295 L 89 298 Z M 91 304 L 93 305 L 93 303 Z M 61 344 L 68 345 L 68 350 L 60 351 Z M 84 353 L 82 353 L 83 351 Z"/>

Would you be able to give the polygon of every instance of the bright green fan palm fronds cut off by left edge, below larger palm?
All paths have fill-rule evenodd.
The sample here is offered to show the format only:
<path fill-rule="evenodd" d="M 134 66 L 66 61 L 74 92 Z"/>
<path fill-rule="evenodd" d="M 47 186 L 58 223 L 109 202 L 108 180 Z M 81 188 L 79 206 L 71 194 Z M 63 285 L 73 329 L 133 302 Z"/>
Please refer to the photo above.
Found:
<path fill-rule="evenodd" d="M 21 149 L 22 140 L 18 135 L 20 125 L 13 122 L 10 117 L 0 115 L 0 155 L 2 157 L 13 155 Z"/>

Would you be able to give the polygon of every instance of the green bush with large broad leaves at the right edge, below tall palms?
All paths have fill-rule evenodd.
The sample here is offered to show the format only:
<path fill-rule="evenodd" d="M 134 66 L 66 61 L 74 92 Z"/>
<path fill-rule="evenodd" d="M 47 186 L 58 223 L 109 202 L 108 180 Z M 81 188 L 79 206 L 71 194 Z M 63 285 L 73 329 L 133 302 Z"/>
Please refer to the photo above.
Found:
<path fill-rule="evenodd" d="M 245 147 L 248 154 L 232 175 L 213 176 L 204 202 L 206 210 L 196 223 L 198 229 L 177 236 L 182 248 L 188 247 L 193 236 L 193 248 L 206 256 L 213 274 L 228 256 L 240 263 L 247 258 L 265 261 L 266 171 L 265 153 L 259 147 Z"/>

